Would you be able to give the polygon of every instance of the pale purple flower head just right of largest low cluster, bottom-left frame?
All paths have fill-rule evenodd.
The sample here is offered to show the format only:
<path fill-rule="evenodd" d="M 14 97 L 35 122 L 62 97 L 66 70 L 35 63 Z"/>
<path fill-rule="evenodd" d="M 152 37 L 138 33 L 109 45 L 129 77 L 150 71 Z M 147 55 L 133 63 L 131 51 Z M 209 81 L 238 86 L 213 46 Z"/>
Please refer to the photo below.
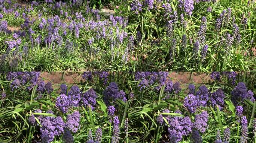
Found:
<path fill-rule="evenodd" d="M 79 121 L 80 121 L 80 113 L 75 111 L 73 114 L 67 115 L 67 122 L 65 124 L 65 128 L 76 133 L 79 128 Z"/>

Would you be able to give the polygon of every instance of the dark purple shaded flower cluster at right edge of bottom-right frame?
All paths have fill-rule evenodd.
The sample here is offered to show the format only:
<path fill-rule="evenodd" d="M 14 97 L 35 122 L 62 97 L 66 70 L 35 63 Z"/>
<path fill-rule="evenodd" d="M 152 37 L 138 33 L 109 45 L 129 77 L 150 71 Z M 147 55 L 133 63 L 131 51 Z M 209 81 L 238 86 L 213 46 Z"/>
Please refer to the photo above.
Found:
<path fill-rule="evenodd" d="M 243 101 L 244 99 L 248 99 L 252 102 L 255 101 L 253 97 L 254 93 L 251 90 L 247 91 L 247 87 L 243 82 L 238 83 L 237 86 L 232 90 L 232 102 L 237 105 L 239 102 Z"/>

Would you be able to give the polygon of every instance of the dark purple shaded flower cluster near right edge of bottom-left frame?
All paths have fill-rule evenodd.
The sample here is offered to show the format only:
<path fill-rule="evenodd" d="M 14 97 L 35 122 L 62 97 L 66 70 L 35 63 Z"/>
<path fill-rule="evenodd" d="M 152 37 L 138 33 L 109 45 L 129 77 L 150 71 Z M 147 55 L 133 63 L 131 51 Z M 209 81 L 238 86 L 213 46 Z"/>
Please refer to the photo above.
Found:
<path fill-rule="evenodd" d="M 103 91 L 103 99 L 106 104 L 115 101 L 116 99 L 122 99 L 122 101 L 127 101 L 125 97 L 125 92 L 123 90 L 119 91 L 118 85 L 115 82 L 111 82 L 109 86 Z"/>

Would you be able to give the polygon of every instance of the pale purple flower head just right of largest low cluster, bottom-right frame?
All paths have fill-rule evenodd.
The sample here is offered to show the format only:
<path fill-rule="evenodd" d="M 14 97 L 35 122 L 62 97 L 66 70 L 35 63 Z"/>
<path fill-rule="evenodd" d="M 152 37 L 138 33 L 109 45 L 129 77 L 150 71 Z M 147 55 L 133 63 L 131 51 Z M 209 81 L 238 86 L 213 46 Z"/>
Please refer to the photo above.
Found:
<path fill-rule="evenodd" d="M 195 115 L 195 123 L 193 124 L 193 128 L 204 133 L 207 128 L 207 121 L 208 121 L 208 113 L 207 111 L 203 111 L 201 114 Z"/>

